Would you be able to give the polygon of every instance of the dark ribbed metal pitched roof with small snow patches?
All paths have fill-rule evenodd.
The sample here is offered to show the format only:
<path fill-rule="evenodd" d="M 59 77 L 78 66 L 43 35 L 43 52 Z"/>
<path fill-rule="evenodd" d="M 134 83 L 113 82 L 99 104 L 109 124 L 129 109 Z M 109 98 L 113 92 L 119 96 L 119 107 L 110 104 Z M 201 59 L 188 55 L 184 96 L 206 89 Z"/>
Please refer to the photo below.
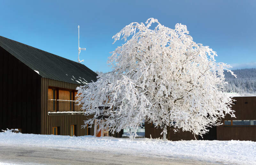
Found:
<path fill-rule="evenodd" d="M 0 36 L 0 47 L 44 78 L 84 85 L 97 80 L 85 65 Z"/>

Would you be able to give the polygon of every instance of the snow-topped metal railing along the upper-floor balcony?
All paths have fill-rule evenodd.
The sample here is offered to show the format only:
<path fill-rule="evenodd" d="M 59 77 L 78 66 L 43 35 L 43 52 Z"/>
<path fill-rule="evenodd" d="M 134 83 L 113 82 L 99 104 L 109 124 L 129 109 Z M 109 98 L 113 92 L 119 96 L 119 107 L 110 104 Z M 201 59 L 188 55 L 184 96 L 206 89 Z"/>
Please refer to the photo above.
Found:
<path fill-rule="evenodd" d="M 82 111 L 82 105 L 76 105 L 77 102 L 73 100 L 54 100 L 49 99 L 47 103 L 47 110 L 56 112 L 66 112 L 66 111 Z"/>

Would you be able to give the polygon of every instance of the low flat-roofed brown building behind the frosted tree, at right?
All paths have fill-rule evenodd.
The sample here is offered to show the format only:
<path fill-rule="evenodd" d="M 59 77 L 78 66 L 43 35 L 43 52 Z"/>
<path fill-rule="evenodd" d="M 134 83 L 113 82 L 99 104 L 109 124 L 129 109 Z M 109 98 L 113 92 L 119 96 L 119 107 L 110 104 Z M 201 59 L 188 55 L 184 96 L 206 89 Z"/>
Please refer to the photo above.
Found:
<path fill-rule="evenodd" d="M 251 140 L 256 141 L 256 96 L 255 97 L 233 97 L 236 100 L 232 106 L 236 118 L 226 115 L 222 120 L 223 125 L 209 128 L 209 132 L 196 136 L 199 140 Z M 162 129 L 156 129 L 151 123 L 145 123 L 145 137 L 162 138 Z M 170 139 L 195 140 L 191 132 L 177 132 L 171 130 Z"/>

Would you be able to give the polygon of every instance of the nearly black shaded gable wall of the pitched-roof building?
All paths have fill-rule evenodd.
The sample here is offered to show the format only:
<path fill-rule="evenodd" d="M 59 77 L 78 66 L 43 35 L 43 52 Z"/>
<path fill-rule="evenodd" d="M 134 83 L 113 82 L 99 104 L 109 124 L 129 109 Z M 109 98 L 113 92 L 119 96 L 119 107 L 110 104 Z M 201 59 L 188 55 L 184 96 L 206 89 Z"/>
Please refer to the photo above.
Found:
<path fill-rule="evenodd" d="M 39 134 L 41 76 L 0 47 L 0 130 Z"/>

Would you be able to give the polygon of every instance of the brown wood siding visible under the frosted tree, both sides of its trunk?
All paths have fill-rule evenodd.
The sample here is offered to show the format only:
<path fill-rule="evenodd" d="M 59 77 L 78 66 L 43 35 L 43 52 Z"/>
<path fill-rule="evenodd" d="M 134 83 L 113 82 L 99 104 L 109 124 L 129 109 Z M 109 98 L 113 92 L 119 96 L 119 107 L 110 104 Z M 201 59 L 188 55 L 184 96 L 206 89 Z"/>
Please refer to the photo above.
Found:
<path fill-rule="evenodd" d="M 145 122 L 145 138 L 150 138 L 150 134 L 152 138 L 163 138 L 163 134 L 161 135 L 163 129 L 156 128 L 151 125 L 151 123 Z M 198 135 L 196 135 L 196 139 L 198 139 Z M 170 129 L 170 140 L 178 141 L 178 140 L 196 140 L 194 134 L 188 131 L 183 132 L 174 132 Z"/>

